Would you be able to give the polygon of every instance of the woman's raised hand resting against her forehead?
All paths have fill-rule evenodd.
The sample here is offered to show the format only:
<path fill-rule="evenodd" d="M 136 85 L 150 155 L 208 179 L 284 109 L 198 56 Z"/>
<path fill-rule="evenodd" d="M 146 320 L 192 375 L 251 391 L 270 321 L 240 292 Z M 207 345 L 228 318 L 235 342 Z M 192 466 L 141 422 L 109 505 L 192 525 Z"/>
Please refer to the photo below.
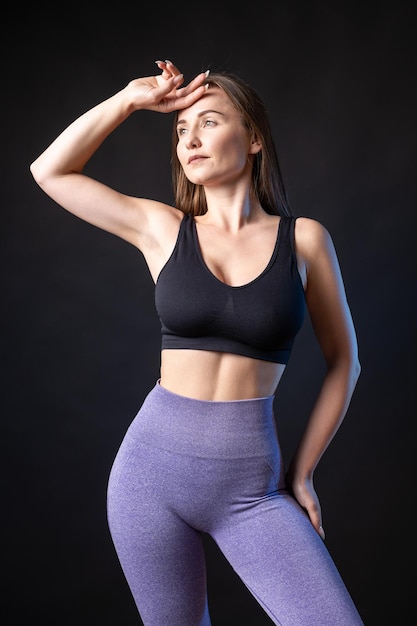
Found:
<path fill-rule="evenodd" d="M 208 72 L 201 72 L 188 83 L 171 61 L 156 61 L 161 74 L 131 80 L 125 87 L 132 111 L 147 109 L 171 113 L 191 106 L 206 92 L 204 82 Z"/>

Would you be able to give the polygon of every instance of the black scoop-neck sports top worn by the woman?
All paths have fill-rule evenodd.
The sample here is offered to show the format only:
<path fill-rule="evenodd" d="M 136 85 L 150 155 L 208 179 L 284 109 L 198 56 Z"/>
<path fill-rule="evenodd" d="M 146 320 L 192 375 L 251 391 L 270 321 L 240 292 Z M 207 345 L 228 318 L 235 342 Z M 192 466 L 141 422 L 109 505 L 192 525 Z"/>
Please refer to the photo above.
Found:
<path fill-rule="evenodd" d="M 208 268 L 195 220 L 185 215 L 155 285 L 162 349 L 231 352 L 286 364 L 306 310 L 295 220 L 281 217 L 266 268 L 249 283 L 233 287 Z"/>

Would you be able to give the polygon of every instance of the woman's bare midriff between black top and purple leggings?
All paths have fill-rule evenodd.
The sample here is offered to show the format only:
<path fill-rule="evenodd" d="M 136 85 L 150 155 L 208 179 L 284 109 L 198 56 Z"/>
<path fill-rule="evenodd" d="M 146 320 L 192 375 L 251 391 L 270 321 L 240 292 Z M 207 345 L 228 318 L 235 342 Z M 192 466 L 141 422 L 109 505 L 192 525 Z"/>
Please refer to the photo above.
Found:
<path fill-rule="evenodd" d="M 238 354 L 205 350 L 162 350 L 160 384 L 173 393 L 229 402 L 275 393 L 285 365 Z"/>

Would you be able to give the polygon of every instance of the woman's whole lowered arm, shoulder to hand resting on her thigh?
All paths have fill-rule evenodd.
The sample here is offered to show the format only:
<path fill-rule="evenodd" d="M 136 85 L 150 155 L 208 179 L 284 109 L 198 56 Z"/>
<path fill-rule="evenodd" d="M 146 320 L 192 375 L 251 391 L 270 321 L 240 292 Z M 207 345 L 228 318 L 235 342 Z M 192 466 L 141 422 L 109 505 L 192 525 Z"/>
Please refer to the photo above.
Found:
<path fill-rule="evenodd" d="M 289 466 L 287 479 L 317 532 L 324 538 L 314 470 L 348 409 L 360 374 L 356 333 L 332 239 L 315 220 L 296 222 L 297 254 L 304 262 L 306 298 L 326 375 Z"/>

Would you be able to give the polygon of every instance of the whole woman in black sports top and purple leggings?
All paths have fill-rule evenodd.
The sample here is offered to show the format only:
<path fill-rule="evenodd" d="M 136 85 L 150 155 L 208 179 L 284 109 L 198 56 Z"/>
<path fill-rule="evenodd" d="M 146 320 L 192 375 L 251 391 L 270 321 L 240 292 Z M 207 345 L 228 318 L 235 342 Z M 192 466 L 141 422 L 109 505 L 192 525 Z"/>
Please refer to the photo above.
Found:
<path fill-rule="evenodd" d="M 209 626 L 202 533 L 285 626 L 362 620 L 323 542 L 314 470 L 358 375 L 331 237 L 291 216 L 264 106 L 233 75 L 170 61 L 75 120 L 34 161 L 41 188 L 136 246 L 155 281 L 160 379 L 114 461 L 108 519 L 146 626 Z M 175 112 L 175 206 L 83 169 L 135 111 Z M 284 476 L 274 393 L 308 309 L 327 372 Z"/>

